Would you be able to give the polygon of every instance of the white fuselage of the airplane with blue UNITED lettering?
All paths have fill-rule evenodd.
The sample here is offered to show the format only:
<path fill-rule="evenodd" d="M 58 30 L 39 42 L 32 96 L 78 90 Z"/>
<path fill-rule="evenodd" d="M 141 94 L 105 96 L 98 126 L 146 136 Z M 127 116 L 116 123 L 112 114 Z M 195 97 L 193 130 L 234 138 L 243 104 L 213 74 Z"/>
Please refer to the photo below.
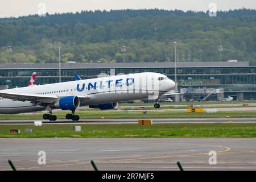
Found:
<path fill-rule="evenodd" d="M 175 82 L 160 73 L 134 73 L 14 88 L 0 90 L 0 92 L 57 97 L 80 96 L 80 106 L 85 106 L 129 100 L 156 100 L 174 87 Z M 82 96 L 86 97 L 82 98 Z M 32 103 L 30 101 L 0 99 L 0 113 L 26 113 L 45 110 L 47 104 L 50 103 L 47 101 Z"/>

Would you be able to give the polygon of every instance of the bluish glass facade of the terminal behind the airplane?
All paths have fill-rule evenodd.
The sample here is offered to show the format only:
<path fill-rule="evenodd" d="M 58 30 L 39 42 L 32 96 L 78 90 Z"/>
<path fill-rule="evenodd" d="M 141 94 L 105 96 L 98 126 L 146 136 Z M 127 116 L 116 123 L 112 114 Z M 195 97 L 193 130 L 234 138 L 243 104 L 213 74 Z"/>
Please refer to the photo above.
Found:
<path fill-rule="evenodd" d="M 147 67 L 146 67 L 147 66 Z M 177 82 L 179 88 L 224 88 L 229 91 L 256 91 L 256 66 L 248 67 L 177 67 Z M 30 76 L 36 72 L 36 84 L 59 82 L 59 69 L 0 69 L 0 85 L 27 86 Z M 158 72 L 174 80 L 174 68 L 115 68 L 118 73 Z M 61 81 L 73 81 L 74 75 L 82 79 L 95 78 L 100 73 L 110 75 L 110 68 L 63 68 Z"/>

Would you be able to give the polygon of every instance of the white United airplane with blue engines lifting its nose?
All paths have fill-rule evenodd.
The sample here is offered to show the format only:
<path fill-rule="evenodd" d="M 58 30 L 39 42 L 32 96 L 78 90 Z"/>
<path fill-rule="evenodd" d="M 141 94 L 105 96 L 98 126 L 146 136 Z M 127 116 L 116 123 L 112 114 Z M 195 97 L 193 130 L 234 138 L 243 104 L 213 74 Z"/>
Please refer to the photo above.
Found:
<path fill-rule="evenodd" d="M 118 102 L 130 100 L 158 100 L 169 90 L 175 88 L 175 82 L 160 73 L 133 73 L 109 77 L 91 78 L 0 90 L 0 97 L 9 100 L 0 101 L 0 114 L 49 111 L 43 119 L 56 121 L 52 110 L 71 110 L 66 119 L 79 121 L 75 111 L 80 106 L 101 110 L 116 109 Z M 5 102 L 7 101 L 7 102 Z M 19 103 L 18 103 L 19 102 Z"/>

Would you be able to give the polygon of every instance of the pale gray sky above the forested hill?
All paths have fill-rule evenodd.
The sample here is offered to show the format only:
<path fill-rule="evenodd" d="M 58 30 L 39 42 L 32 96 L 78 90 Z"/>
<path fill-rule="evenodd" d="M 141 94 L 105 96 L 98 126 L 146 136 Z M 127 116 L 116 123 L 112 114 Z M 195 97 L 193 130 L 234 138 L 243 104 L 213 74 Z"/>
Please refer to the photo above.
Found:
<path fill-rule="evenodd" d="M 0 0 L 0 18 L 40 14 L 67 13 L 81 10 L 165 9 L 207 11 L 215 3 L 217 10 L 256 9 L 255 0 Z"/>

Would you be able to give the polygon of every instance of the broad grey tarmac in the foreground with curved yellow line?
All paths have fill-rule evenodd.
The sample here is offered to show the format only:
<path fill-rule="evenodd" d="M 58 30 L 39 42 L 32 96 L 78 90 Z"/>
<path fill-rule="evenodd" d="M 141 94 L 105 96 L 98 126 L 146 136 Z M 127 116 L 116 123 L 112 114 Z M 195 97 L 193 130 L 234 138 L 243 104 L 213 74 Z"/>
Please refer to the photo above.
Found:
<path fill-rule="evenodd" d="M 0 139 L 0 170 L 256 170 L 256 138 Z M 46 152 L 46 165 L 38 152 Z M 217 164 L 209 164 L 209 151 Z"/>

